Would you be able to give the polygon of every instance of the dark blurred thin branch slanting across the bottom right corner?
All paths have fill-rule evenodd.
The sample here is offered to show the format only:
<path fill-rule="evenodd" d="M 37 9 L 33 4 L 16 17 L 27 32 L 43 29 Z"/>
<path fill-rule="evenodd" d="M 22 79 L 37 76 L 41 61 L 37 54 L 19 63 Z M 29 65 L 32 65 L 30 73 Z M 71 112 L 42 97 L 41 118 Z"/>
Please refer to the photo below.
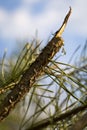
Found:
<path fill-rule="evenodd" d="M 87 109 L 87 104 L 84 106 L 82 105 L 80 107 L 69 110 L 63 114 L 56 116 L 56 117 L 53 116 L 53 118 L 51 117 L 51 118 L 43 119 L 41 122 L 39 121 L 38 123 L 33 125 L 31 128 L 28 128 L 26 130 L 41 130 L 41 128 L 46 128 L 47 126 L 52 125 L 52 124 L 55 125 L 58 121 L 62 121 L 62 120 L 65 120 L 67 118 L 70 118 L 72 115 L 75 115 L 79 112 L 82 112 L 85 109 Z M 86 121 L 85 121 L 84 125 L 87 124 L 87 114 L 85 116 L 85 119 L 86 119 Z M 82 130 L 82 129 L 75 129 L 72 127 L 72 129 L 69 129 L 69 130 Z"/>

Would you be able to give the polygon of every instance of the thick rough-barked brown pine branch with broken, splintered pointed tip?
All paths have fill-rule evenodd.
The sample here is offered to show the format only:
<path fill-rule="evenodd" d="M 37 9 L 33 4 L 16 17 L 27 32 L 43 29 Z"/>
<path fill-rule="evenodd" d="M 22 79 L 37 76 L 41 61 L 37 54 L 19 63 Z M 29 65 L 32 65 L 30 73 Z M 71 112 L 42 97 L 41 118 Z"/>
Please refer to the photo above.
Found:
<path fill-rule="evenodd" d="M 66 15 L 61 28 L 55 33 L 51 41 L 42 50 L 36 60 L 30 65 L 30 67 L 22 75 L 21 80 L 15 87 L 9 92 L 9 94 L 2 101 L 0 106 L 0 121 L 8 116 L 10 110 L 29 92 L 30 88 L 35 83 L 36 79 L 44 71 L 50 59 L 60 50 L 63 46 L 63 39 L 61 34 L 63 33 L 69 16 L 71 14 L 71 8 Z"/>

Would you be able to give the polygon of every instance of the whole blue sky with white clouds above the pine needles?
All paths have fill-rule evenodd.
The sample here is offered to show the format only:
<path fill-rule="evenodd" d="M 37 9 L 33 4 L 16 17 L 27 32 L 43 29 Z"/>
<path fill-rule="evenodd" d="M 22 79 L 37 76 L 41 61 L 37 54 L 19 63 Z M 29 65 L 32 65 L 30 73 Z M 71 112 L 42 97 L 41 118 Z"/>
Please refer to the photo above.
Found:
<path fill-rule="evenodd" d="M 87 39 L 87 0 L 0 0 L 0 57 L 5 48 L 11 54 L 15 45 L 21 44 L 18 41 L 33 39 L 36 31 L 46 44 L 70 6 L 72 14 L 63 33 L 68 56 Z"/>

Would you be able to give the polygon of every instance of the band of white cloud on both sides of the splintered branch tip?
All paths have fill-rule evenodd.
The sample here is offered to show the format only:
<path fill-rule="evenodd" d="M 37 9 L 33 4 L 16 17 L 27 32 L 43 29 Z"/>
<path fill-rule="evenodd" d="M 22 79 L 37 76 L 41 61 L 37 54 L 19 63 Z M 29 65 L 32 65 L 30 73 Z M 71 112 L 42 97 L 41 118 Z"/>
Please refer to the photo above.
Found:
<path fill-rule="evenodd" d="M 37 2 L 39 0 L 22 0 L 25 4 Z M 0 9 L 0 35 L 8 38 L 27 38 L 34 36 L 36 29 L 39 35 L 44 38 L 61 25 L 66 12 L 69 10 L 69 2 L 49 0 L 45 10 L 33 16 L 27 8 L 22 6 L 13 11 L 7 12 Z M 69 21 L 67 30 L 71 34 L 82 35 L 87 34 L 87 1 L 82 0 L 72 2 L 73 12 Z"/>

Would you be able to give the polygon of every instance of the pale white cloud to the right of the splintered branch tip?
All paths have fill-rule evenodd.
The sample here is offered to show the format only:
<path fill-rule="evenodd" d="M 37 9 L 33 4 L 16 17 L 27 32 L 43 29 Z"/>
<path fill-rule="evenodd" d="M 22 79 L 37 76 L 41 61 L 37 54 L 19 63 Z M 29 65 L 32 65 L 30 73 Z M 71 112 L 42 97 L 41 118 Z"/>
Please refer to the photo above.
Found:
<path fill-rule="evenodd" d="M 74 33 L 87 37 L 87 1 L 79 0 L 73 5 L 71 27 Z"/>

